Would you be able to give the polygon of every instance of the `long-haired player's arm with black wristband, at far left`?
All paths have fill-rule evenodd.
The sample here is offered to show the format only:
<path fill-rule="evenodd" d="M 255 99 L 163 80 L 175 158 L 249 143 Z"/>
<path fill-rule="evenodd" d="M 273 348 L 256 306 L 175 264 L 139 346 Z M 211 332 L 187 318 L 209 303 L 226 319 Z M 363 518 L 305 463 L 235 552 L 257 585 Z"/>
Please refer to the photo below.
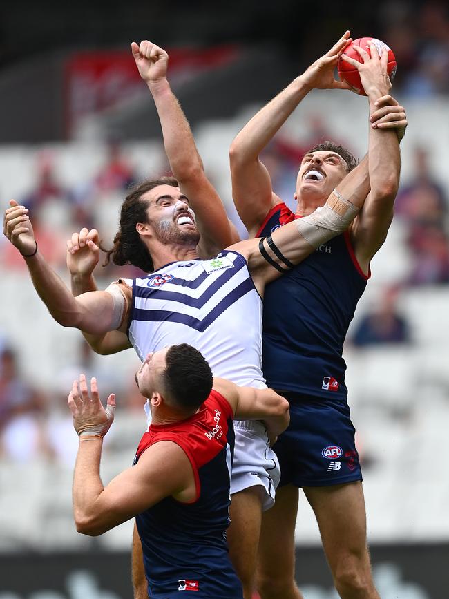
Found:
<path fill-rule="evenodd" d="M 6 210 L 3 233 L 26 261 L 32 284 L 55 321 L 95 334 L 116 328 L 113 296 L 108 292 L 90 292 L 74 298 L 39 252 L 28 210 L 15 200 Z"/>

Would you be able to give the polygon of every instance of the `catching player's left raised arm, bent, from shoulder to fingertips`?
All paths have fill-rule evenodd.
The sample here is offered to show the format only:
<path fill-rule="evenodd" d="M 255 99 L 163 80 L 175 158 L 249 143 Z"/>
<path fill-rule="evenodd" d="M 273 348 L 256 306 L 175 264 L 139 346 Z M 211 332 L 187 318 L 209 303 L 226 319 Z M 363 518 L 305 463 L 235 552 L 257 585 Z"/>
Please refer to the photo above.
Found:
<path fill-rule="evenodd" d="M 259 155 L 309 91 L 314 88 L 350 89 L 347 83 L 334 78 L 338 57 L 350 41 L 349 36 L 350 32 L 345 32 L 329 52 L 264 106 L 231 144 L 233 200 L 250 237 L 256 235 L 271 207 L 280 202 L 272 191 L 269 173 Z"/>

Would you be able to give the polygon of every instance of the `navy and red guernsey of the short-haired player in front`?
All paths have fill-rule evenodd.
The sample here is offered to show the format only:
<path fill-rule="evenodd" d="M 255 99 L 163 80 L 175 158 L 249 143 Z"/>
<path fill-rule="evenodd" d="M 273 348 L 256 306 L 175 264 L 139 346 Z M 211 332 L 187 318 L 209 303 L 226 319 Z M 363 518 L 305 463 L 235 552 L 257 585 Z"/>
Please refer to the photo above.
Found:
<path fill-rule="evenodd" d="M 195 475 L 196 498 L 166 497 L 136 516 L 151 598 L 242 599 L 242 586 L 229 560 L 229 485 L 234 432 L 232 409 L 215 390 L 200 411 L 170 425 L 150 425 L 135 463 L 158 441 L 173 441 L 186 453 Z"/>

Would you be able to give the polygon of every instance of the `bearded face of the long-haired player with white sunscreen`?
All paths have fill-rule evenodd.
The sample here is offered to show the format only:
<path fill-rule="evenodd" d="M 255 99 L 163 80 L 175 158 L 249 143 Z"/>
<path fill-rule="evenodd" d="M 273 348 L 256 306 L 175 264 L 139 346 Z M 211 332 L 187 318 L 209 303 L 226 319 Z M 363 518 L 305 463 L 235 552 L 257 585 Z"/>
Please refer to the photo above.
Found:
<path fill-rule="evenodd" d="M 158 240 L 181 245 L 198 243 L 200 234 L 195 223 L 195 213 L 178 187 L 159 185 L 144 193 L 142 198 L 149 202 L 146 213 Z"/>

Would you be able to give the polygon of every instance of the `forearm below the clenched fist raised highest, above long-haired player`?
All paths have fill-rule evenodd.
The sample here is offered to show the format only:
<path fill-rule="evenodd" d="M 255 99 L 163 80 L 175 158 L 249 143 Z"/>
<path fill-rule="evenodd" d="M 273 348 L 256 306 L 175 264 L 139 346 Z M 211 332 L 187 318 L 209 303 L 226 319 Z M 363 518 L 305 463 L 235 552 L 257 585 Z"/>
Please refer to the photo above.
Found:
<path fill-rule="evenodd" d="M 202 170 L 202 160 L 195 146 L 195 140 L 182 112 L 182 108 L 171 91 L 166 79 L 149 82 L 164 137 L 164 148 L 173 176 L 181 183 Z"/>

